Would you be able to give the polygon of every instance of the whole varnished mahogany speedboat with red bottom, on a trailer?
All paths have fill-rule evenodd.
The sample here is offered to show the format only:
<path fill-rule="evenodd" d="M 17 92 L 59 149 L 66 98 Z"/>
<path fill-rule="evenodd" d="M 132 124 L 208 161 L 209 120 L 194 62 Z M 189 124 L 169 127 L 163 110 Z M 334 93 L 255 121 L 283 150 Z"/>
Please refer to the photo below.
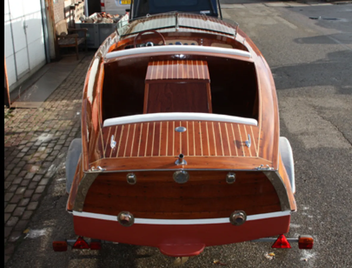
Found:
<path fill-rule="evenodd" d="M 119 29 L 88 69 L 81 128 L 66 165 L 78 248 L 89 237 L 193 256 L 272 236 L 289 247 L 292 150 L 270 68 L 238 26 L 176 12 Z"/>

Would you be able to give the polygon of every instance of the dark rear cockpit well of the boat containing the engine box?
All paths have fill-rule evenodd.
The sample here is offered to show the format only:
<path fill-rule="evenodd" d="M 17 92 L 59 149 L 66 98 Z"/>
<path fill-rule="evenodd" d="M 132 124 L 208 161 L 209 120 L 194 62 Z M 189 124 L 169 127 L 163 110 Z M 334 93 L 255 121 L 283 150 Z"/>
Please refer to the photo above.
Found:
<path fill-rule="evenodd" d="M 154 53 L 158 55 L 121 54 L 121 59 L 117 56 L 111 61 L 107 57 L 102 86 L 103 120 L 158 112 L 215 113 L 258 120 L 253 62 L 209 56 L 210 53 Z"/>

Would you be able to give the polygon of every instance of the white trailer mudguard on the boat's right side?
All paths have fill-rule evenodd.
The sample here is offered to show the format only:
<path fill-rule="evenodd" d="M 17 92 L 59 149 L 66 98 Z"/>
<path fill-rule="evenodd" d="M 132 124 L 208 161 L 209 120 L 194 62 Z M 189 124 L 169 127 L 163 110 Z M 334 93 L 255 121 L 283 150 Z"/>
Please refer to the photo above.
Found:
<path fill-rule="evenodd" d="M 279 150 L 281 154 L 282 162 L 285 166 L 287 175 L 290 179 L 292 192 L 296 192 L 296 183 L 295 183 L 295 168 L 293 163 L 293 154 L 290 142 L 285 137 L 279 138 Z"/>

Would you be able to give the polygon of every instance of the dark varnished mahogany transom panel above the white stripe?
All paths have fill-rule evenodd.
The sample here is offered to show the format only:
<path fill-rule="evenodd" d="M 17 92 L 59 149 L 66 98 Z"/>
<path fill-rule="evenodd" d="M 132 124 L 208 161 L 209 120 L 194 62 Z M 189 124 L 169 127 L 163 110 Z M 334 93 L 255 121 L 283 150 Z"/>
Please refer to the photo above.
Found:
<path fill-rule="evenodd" d="M 188 171 L 189 180 L 177 183 L 174 171 L 134 172 L 137 182 L 126 181 L 128 172 L 102 173 L 92 183 L 83 210 L 117 216 L 128 211 L 135 218 L 229 218 L 236 210 L 247 216 L 281 211 L 280 199 L 262 172 Z"/>

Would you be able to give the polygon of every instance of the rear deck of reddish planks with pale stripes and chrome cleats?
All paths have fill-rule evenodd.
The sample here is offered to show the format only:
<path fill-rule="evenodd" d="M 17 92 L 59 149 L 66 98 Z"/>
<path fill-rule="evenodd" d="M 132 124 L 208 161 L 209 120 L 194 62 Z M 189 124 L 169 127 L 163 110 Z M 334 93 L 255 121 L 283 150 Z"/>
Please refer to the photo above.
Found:
<path fill-rule="evenodd" d="M 177 132 L 178 126 L 186 127 Z M 248 135 L 252 145 L 245 144 Z M 111 148 L 111 137 L 116 142 Z M 103 127 L 97 150 L 101 158 L 216 156 L 258 157 L 259 127 L 212 121 L 158 121 Z"/>

